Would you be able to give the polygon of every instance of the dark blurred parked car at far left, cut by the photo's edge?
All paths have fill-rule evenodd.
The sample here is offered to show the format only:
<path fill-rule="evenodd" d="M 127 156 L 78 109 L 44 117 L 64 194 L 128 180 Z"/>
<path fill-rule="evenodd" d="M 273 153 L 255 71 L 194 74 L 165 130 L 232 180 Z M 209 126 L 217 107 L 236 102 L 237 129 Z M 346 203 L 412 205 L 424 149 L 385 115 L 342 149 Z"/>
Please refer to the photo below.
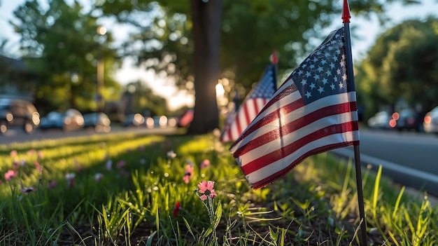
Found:
<path fill-rule="evenodd" d="M 26 100 L 0 98 L 0 135 L 9 128 L 21 128 L 31 134 L 39 124 L 40 114 L 34 104 Z"/>

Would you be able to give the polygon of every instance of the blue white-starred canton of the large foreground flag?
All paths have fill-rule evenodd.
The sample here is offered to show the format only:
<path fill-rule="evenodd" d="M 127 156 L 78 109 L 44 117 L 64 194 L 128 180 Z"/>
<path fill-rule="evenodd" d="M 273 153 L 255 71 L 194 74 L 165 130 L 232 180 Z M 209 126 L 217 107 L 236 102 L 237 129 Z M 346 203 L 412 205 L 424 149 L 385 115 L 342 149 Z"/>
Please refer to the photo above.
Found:
<path fill-rule="evenodd" d="M 327 36 L 327 39 L 292 72 L 292 81 L 302 95 L 304 104 L 349 91 L 343 28 Z"/>

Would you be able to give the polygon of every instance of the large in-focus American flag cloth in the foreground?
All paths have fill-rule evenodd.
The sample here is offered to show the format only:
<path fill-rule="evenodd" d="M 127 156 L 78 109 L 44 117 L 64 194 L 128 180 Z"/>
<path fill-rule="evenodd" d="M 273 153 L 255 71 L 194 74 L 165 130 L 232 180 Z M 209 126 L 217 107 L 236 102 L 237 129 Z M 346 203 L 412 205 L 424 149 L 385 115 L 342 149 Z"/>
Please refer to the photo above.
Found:
<path fill-rule="evenodd" d="M 353 83 L 341 28 L 292 71 L 230 148 L 253 189 L 313 154 L 359 144 Z"/>

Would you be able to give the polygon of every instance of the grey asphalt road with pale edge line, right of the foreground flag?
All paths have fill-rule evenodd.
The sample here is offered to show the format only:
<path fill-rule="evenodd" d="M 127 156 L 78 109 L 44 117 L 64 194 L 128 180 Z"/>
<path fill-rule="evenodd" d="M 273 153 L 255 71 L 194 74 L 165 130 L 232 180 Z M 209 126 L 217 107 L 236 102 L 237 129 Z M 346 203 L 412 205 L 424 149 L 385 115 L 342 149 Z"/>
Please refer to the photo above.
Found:
<path fill-rule="evenodd" d="M 382 165 L 394 182 L 438 196 L 438 136 L 395 130 L 361 130 L 360 163 L 373 170 Z M 353 147 L 331 151 L 355 158 Z"/>

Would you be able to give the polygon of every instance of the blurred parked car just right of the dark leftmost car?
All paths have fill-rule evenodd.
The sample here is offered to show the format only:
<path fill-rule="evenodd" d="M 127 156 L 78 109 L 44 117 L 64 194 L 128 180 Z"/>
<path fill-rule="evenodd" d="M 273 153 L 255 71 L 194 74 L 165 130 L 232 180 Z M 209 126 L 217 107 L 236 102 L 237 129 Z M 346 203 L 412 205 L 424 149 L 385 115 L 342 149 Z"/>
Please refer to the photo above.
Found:
<path fill-rule="evenodd" d="M 79 130 L 84 127 L 84 117 L 76 109 L 66 111 L 51 111 L 47 116 L 41 118 L 40 128 L 60 129 L 63 131 Z"/>

